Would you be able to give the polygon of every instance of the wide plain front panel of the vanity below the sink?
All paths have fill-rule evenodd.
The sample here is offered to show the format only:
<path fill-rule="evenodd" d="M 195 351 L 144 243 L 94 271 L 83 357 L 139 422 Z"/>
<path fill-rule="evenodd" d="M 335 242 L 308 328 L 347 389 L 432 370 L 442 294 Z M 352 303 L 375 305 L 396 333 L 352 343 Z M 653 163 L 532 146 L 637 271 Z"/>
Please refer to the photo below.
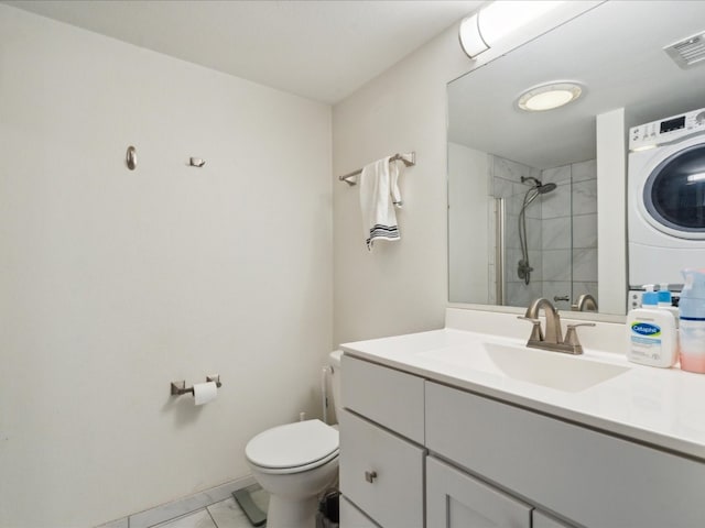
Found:
<path fill-rule="evenodd" d="M 705 463 L 431 382 L 426 447 L 582 526 L 705 519 Z"/>

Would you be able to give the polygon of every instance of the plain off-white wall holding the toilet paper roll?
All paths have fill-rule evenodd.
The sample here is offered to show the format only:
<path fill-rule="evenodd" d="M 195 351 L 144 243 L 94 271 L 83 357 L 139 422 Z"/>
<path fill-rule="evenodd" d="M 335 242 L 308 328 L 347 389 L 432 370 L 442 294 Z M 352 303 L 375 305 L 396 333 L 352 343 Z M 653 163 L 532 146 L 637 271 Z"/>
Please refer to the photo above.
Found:
<path fill-rule="evenodd" d="M 249 438 L 318 414 L 330 134 L 328 106 L 0 4 L 0 526 L 248 475 Z M 215 402 L 169 395 L 210 373 Z"/>

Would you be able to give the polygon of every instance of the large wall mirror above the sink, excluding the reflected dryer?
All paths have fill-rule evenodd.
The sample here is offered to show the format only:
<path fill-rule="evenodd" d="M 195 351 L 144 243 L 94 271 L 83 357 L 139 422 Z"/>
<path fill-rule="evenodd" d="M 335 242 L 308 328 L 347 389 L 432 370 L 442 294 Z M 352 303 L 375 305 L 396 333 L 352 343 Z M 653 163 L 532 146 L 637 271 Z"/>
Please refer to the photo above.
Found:
<path fill-rule="evenodd" d="M 597 218 L 626 209 L 597 200 L 610 180 L 597 179 L 596 117 L 623 108 L 628 131 L 704 108 L 705 50 L 690 68 L 664 52 L 703 33 L 705 2 L 612 0 L 448 84 L 451 302 L 546 297 L 570 310 L 590 294 L 600 311 L 598 280 L 609 277 L 597 276 L 598 260 L 610 255 L 599 251 Z M 583 89 L 576 101 L 518 108 L 528 89 L 566 80 Z M 601 235 L 627 243 L 625 232 Z M 609 311 L 623 315 L 626 302 Z"/>

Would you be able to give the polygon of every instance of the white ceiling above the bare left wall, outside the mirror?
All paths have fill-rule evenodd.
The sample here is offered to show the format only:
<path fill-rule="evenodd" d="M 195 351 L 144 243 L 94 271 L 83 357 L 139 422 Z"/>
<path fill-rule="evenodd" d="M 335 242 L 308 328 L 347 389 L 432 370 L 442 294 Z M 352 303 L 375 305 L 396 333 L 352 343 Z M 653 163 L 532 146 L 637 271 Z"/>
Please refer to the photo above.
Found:
<path fill-rule="evenodd" d="M 2 0 L 316 101 L 335 103 L 482 1 Z"/>

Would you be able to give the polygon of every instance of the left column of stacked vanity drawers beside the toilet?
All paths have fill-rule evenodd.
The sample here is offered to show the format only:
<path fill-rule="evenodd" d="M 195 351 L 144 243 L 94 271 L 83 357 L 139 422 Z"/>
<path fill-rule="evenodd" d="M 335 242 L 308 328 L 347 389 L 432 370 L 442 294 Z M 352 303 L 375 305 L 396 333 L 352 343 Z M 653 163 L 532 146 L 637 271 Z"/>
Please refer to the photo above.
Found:
<path fill-rule="evenodd" d="M 340 526 L 423 528 L 424 380 L 347 355 L 340 372 Z"/>

